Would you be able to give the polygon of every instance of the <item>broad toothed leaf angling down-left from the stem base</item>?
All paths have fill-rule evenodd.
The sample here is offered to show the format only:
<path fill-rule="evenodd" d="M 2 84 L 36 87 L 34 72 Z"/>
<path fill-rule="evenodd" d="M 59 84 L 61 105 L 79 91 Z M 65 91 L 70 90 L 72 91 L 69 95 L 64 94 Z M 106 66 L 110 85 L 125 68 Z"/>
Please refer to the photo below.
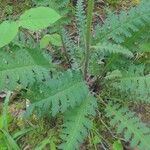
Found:
<path fill-rule="evenodd" d="M 57 79 L 33 86 L 28 92 L 31 105 L 27 109 L 27 116 L 33 112 L 43 116 L 49 112 L 55 116 L 65 112 L 68 107 L 74 107 L 88 95 L 89 90 L 80 73 L 68 71 Z"/>

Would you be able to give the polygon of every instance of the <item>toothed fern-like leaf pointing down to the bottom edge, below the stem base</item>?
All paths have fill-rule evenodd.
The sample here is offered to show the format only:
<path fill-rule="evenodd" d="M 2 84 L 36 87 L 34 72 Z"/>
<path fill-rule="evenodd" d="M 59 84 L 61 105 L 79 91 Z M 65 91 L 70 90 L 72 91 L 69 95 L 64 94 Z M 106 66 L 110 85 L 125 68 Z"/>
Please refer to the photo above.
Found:
<path fill-rule="evenodd" d="M 60 145 L 63 150 L 79 149 L 79 145 L 83 142 L 88 134 L 88 130 L 92 128 L 92 121 L 89 115 L 95 115 L 97 103 L 94 97 L 88 96 L 83 102 L 68 110 L 64 116 L 64 125 L 61 138 L 64 143 Z"/>

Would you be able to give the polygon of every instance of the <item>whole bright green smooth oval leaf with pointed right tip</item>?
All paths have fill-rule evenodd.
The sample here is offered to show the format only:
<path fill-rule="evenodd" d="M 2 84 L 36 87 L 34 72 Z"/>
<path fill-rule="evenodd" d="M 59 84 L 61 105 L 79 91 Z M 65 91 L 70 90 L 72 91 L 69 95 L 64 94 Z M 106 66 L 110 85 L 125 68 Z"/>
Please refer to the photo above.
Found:
<path fill-rule="evenodd" d="M 47 28 L 60 18 L 61 16 L 51 8 L 37 7 L 27 10 L 20 16 L 19 22 L 23 28 L 36 31 Z"/>

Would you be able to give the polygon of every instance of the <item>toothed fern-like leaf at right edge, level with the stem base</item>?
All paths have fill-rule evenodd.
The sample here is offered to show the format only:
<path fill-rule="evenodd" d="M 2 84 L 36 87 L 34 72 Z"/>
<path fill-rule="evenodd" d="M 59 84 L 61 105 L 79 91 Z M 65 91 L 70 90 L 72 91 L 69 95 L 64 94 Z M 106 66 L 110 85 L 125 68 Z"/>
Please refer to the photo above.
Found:
<path fill-rule="evenodd" d="M 128 93 L 133 100 L 150 102 L 150 74 L 145 75 L 144 68 L 143 65 L 129 67 L 128 71 L 122 73 L 122 77 L 112 83 L 113 87 Z"/>

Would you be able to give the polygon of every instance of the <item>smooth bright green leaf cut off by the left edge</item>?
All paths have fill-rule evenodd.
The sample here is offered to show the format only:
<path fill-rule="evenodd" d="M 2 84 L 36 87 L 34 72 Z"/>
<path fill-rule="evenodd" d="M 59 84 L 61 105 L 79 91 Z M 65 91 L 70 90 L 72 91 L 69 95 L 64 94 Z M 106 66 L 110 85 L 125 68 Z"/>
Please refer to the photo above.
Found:
<path fill-rule="evenodd" d="M 0 48 L 10 43 L 18 32 L 18 23 L 4 21 L 0 24 Z"/>

